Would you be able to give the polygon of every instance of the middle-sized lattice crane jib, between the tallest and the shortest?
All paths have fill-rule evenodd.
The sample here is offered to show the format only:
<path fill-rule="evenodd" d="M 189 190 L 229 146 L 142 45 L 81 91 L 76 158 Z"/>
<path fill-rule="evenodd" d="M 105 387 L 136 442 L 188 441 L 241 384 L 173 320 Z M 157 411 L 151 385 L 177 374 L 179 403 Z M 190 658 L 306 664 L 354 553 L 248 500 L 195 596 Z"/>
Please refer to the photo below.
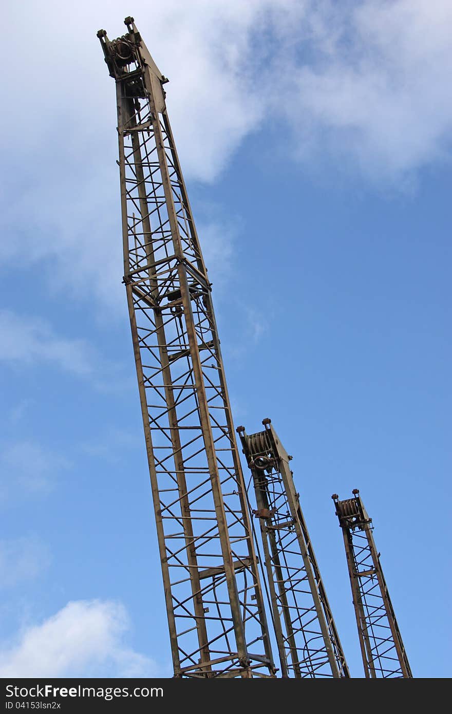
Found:
<path fill-rule="evenodd" d="M 256 492 L 273 623 L 286 677 L 349 677 L 288 456 L 270 419 L 237 428 Z"/>

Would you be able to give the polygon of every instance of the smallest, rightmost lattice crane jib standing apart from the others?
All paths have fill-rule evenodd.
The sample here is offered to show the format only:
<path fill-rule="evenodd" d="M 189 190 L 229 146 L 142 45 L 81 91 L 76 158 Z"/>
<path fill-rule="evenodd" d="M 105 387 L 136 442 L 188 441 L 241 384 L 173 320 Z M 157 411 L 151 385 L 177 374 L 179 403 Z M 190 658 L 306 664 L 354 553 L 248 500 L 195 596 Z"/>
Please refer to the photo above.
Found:
<path fill-rule="evenodd" d="M 342 528 L 353 606 L 366 678 L 411 678 L 396 615 L 383 576 L 380 553 L 373 540 L 372 519 L 363 506 L 358 488 L 353 498 L 332 498 Z"/>

